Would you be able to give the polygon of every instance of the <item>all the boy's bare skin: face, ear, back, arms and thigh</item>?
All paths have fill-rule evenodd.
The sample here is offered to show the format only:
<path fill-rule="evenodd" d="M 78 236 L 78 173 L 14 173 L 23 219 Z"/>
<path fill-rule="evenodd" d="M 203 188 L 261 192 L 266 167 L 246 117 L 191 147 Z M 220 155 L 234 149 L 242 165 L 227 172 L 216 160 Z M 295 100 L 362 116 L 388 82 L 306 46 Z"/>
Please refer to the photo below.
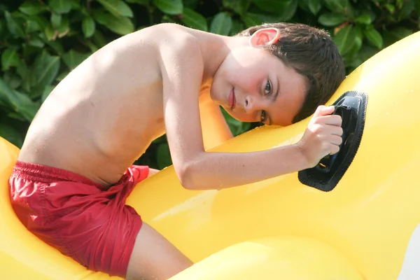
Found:
<path fill-rule="evenodd" d="M 232 137 L 219 105 L 239 120 L 291 124 L 306 80 L 261 48 L 280 36 L 277 29 L 251 38 L 219 36 L 173 24 L 123 36 L 57 85 L 29 127 L 19 160 L 111 186 L 166 133 L 175 172 L 188 189 L 230 188 L 313 167 L 342 141 L 341 118 L 330 115 L 331 106 L 318 107 L 295 145 L 253 153 L 205 150 L 207 134 L 217 134 L 219 143 Z M 168 279 L 190 265 L 144 223 L 127 279 Z"/>

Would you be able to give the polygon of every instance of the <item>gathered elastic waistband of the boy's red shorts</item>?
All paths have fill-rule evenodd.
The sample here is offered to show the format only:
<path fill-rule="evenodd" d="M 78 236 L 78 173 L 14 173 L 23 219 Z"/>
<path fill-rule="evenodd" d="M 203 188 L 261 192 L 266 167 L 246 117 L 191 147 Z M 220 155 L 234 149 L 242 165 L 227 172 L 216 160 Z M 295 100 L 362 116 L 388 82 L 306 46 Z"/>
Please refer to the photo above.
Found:
<path fill-rule="evenodd" d="M 77 183 L 85 183 L 87 185 L 96 186 L 98 188 L 106 188 L 99 183 L 96 183 L 83 175 L 70 172 L 65 169 L 57 167 L 50 167 L 48 165 L 39 165 L 32 162 L 17 161 L 13 167 L 12 176 L 18 176 L 23 179 L 31 181 L 38 181 L 40 183 L 54 183 L 57 181 L 72 181 Z"/>

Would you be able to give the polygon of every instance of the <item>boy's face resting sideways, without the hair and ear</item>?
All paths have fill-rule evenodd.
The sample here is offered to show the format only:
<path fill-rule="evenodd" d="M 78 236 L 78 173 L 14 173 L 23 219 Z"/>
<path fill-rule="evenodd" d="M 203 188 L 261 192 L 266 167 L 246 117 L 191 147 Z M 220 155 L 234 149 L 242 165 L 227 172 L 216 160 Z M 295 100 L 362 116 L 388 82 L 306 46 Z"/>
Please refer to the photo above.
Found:
<path fill-rule="evenodd" d="M 307 81 L 262 48 L 232 50 L 216 72 L 211 99 L 237 120 L 290 125 L 304 102 Z"/>

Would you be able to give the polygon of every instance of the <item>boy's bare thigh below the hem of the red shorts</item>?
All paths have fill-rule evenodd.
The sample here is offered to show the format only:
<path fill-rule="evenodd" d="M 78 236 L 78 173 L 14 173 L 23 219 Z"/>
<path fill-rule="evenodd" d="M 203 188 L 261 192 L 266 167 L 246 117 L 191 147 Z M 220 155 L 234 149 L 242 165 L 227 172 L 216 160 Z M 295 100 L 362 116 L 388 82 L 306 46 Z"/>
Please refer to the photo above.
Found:
<path fill-rule="evenodd" d="M 143 222 L 127 267 L 127 280 L 166 280 L 193 265 L 159 232 Z"/>

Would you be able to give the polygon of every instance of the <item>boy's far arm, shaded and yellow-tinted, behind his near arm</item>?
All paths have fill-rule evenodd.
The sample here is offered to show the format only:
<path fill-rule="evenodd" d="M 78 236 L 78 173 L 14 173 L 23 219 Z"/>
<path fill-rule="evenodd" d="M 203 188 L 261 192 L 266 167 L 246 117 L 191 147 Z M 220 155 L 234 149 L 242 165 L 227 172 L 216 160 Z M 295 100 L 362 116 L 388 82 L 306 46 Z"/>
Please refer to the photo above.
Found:
<path fill-rule="evenodd" d="M 233 137 L 220 106 L 209 98 L 209 92 L 202 92 L 200 97 L 200 120 L 204 150 L 219 146 Z"/>

